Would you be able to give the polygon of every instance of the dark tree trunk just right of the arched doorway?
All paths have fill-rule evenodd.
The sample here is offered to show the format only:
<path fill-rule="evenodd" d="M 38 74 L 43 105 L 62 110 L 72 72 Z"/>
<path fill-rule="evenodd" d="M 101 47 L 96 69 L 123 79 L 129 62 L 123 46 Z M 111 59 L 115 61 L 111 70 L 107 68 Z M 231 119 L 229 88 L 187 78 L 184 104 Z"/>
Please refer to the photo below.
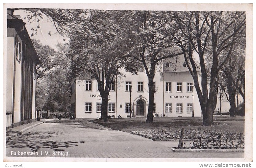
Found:
<path fill-rule="evenodd" d="M 149 77 L 149 109 L 146 123 L 153 122 L 153 110 L 154 110 L 154 94 L 155 94 L 155 86 L 153 82 L 154 77 Z"/>

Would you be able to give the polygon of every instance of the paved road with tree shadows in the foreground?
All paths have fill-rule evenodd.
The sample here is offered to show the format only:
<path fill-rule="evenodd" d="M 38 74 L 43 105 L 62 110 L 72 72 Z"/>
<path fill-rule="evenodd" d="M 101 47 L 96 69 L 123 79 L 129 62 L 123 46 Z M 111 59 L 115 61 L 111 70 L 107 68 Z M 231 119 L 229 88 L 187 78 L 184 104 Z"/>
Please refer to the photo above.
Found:
<path fill-rule="evenodd" d="M 7 157 L 243 158 L 243 152 L 173 152 L 177 142 L 152 141 L 91 123 L 53 120 L 6 142 Z M 27 152 L 22 155 L 19 152 Z M 30 153 L 29 153 L 30 152 Z M 20 155 L 19 155 L 20 154 Z M 34 155 L 32 155 L 34 154 Z M 67 155 L 68 154 L 68 155 Z"/>

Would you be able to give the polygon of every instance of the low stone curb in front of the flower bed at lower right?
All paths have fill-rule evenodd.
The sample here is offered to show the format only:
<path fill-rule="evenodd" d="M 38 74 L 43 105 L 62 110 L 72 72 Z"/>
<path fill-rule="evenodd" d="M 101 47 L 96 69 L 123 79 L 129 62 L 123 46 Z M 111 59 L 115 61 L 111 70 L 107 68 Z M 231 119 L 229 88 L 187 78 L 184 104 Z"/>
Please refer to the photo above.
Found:
<path fill-rule="evenodd" d="M 173 152 L 244 152 L 244 149 L 171 149 Z"/>

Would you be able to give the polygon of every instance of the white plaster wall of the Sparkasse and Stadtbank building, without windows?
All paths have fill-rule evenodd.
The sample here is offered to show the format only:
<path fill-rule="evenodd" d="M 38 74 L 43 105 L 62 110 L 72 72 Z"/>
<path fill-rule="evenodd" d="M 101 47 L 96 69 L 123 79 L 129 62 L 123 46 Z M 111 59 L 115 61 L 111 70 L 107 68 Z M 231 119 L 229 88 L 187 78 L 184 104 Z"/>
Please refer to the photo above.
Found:
<path fill-rule="evenodd" d="M 115 117 L 121 115 L 122 118 L 126 118 L 130 113 L 125 113 L 125 103 L 130 103 L 130 91 L 125 91 L 125 82 L 132 82 L 131 91 L 131 103 L 133 109 L 133 116 L 137 115 L 137 101 L 140 100 L 139 96 L 142 95 L 142 99 L 145 104 L 145 116 L 148 112 L 148 77 L 145 72 L 139 72 L 137 75 L 132 75 L 129 72 L 123 71 L 126 74 L 125 77 L 117 77 L 115 84 L 115 91 L 110 92 L 109 102 L 114 102 L 116 105 L 116 113 L 108 113 L 108 115 Z M 137 91 L 137 82 L 143 82 L 143 91 Z M 192 92 L 187 92 L 187 83 L 194 83 L 189 72 L 180 72 L 174 74 L 172 72 L 164 73 L 164 81 L 160 72 L 157 72 L 154 77 L 156 82 L 156 93 L 154 95 L 154 102 L 156 103 L 156 112 L 159 112 L 160 116 L 192 116 L 192 113 L 187 113 L 187 103 L 192 103 Z M 165 82 L 172 82 L 172 91 L 165 91 Z M 176 91 L 176 82 L 182 82 L 182 92 Z M 201 81 L 199 80 L 199 83 Z M 96 80 L 92 81 L 92 91 L 85 91 L 85 80 L 77 80 L 76 93 L 73 94 L 72 99 L 76 101 L 76 117 L 77 118 L 96 118 L 100 116 L 100 113 L 96 113 L 96 103 L 101 102 L 100 93 L 97 89 Z M 74 96 L 76 95 L 76 96 Z M 182 98 L 173 98 L 173 96 L 186 96 Z M 72 101 L 73 103 L 74 101 Z M 92 102 L 92 113 L 85 113 L 85 102 Z M 165 104 L 172 103 L 172 113 L 165 113 Z M 183 112 L 176 113 L 176 103 L 183 103 Z M 121 106 L 120 106 L 121 105 Z M 194 116 L 201 116 L 201 107 L 199 104 L 198 96 L 194 89 Z"/>

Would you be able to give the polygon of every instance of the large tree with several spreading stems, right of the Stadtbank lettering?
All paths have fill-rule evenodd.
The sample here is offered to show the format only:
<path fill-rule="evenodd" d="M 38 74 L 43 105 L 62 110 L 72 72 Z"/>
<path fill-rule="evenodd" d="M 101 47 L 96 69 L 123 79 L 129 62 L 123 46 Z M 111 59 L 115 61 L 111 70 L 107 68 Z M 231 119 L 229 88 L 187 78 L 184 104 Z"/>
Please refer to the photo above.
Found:
<path fill-rule="evenodd" d="M 245 38 L 245 13 L 174 11 L 171 12 L 171 16 L 173 17 L 171 36 L 175 44 L 184 51 L 187 67 L 193 76 L 203 113 L 203 125 L 212 125 L 218 95 L 217 77 L 235 51 L 235 42 L 243 41 Z M 186 49 L 188 53 L 185 52 Z M 200 87 L 200 76 L 192 55 L 193 51 L 199 55 L 202 87 Z"/>

